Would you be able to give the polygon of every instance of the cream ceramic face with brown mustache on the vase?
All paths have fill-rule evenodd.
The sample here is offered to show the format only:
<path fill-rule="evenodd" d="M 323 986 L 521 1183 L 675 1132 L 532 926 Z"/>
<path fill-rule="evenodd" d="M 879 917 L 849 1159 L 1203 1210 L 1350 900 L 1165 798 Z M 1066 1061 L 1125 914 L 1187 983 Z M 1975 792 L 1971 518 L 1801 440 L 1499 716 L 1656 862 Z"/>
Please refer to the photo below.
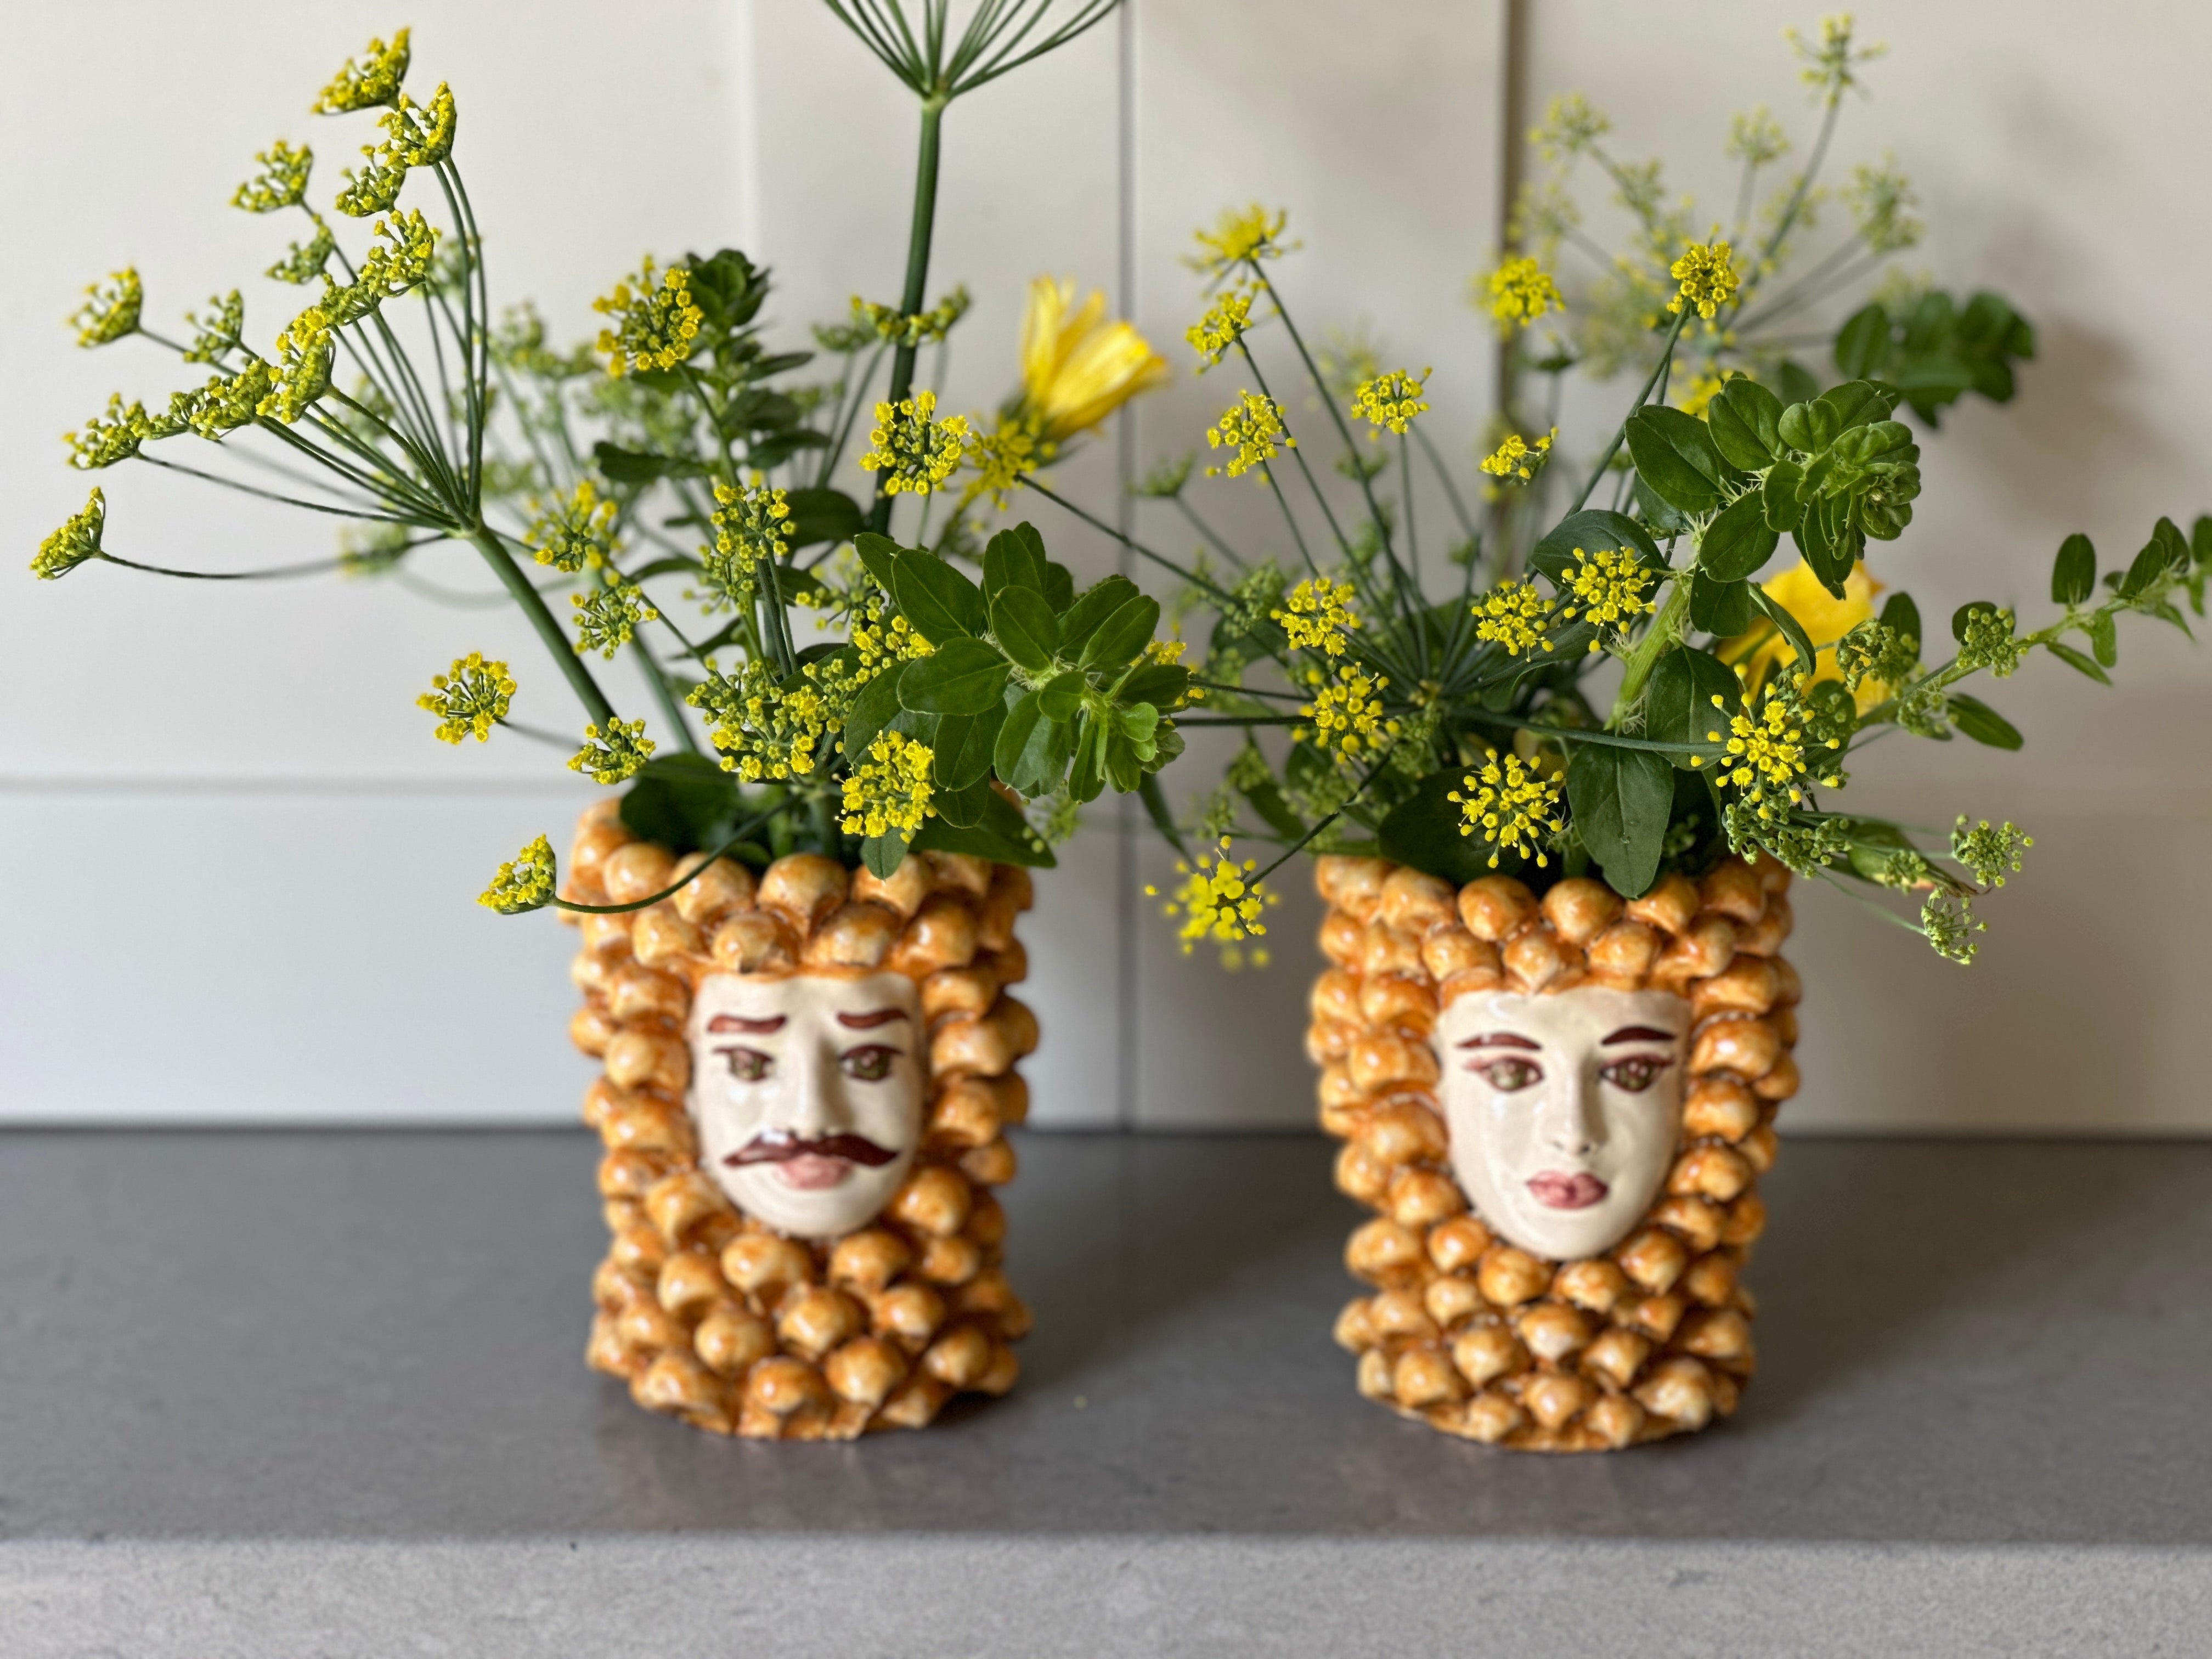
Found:
<path fill-rule="evenodd" d="M 699 1159 L 730 1203 L 799 1239 L 876 1219 L 922 1139 L 914 980 L 714 973 L 686 1035 Z"/>

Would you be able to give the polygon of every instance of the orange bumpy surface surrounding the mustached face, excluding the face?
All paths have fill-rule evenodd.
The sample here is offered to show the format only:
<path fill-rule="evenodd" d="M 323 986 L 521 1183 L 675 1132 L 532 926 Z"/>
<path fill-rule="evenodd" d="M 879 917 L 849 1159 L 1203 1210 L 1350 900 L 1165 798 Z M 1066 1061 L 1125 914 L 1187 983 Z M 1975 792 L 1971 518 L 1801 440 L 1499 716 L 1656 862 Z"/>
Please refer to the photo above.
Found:
<path fill-rule="evenodd" d="M 606 1144 L 611 1234 L 588 1363 L 653 1411 L 765 1440 L 920 1429 L 953 1394 L 1004 1394 L 1029 1310 L 1000 1265 L 991 1188 L 1015 1172 L 1002 1130 L 1029 1113 L 1015 1066 L 1037 1044 L 1006 991 L 1026 975 L 1013 920 L 1029 874 L 958 854 L 911 854 L 889 880 L 814 854 L 759 878 L 699 863 L 630 838 L 606 810 L 586 814 L 568 863 L 577 902 L 646 898 L 697 872 L 650 909 L 582 920 L 571 1035 L 604 1064 L 584 1119 Z M 794 1237 L 734 1203 L 703 1157 L 686 1033 L 730 975 L 869 973 L 902 975 L 920 1011 L 911 1161 L 887 1166 L 896 1179 L 863 1225 Z"/>

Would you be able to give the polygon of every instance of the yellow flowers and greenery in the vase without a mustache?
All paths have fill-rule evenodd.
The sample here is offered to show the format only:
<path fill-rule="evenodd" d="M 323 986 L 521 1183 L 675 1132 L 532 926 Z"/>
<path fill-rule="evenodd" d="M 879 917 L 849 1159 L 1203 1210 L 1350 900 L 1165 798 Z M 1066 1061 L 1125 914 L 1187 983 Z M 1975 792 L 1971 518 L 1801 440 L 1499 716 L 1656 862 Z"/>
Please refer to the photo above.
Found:
<path fill-rule="evenodd" d="M 2212 518 L 2190 535 L 2161 518 L 2143 551 L 2101 580 L 2088 538 L 2066 538 L 2055 613 L 2035 628 L 2000 599 L 1962 606 L 1949 641 L 1905 593 L 1876 613 L 1869 542 L 1902 535 L 1920 493 L 1918 436 L 1896 416 L 1933 427 L 1969 392 L 2006 400 L 2033 330 L 1993 294 L 1964 307 L 1936 290 L 1900 301 L 1893 279 L 1834 336 L 1790 321 L 1918 237 L 1905 179 L 1863 168 L 1845 190 L 1851 234 L 1792 263 L 1843 95 L 1874 55 L 1847 18 L 1798 51 L 1823 111 L 1812 161 L 1761 201 L 1785 137 L 1763 111 L 1739 117 L 1732 234 L 1699 239 L 1692 208 L 1666 206 L 1659 166 L 1615 159 L 1608 122 L 1586 102 L 1551 106 L 1533 139 L 1555 170 L 1522 199 L 1526 250 L 1475 288 L 1511 336 L 1509 367 L 1522 374 L 1509 387 L 1531 369 L 1548 387 L 1533 422 L 1509 389 L 1482 460 L 1486 522 L 1422 429 L 1429 369 L 1383 367 L 1358 343 L 1307 345 L 1276 268 L 1290 252 L 1285 217 L 1254 206 L 1199 232 L 1190 263 L 1210 303 L 1190 330 L 1197 367 L 1234 356 L 1248 376 L 1206 434 L 1208 476 L 1256 480 L 1290 553 L 1252 557 L 1219 535 L 1188 500 L 1188 460 L 1144 487 L 1208 549 L 1186 564 L 1133 542 L 1181 580 L 1177 615 L 1208 628 L 1197 686 L 1210 712 L 1181 723 L 1243 734 L 1188 818 L 1146 792 L 1183 852 L 1168 914 L 1186 949 L 1210 938 L 1228 964 L 1243 960 L 1265 927 L 1267 876 L 1301 849 L 1380 854 L 1455 885 L 1498 874 L 1542 889 L 1595 874 L 1626 898 L 1734 854 L 1843 887 L 1942 956 L 1973 958 L 1973 905 L 2020 869 L 2028 836 L 1960 816 L 1927 841 L 1849 812 L 1836 794 L 1856 752 L 1891 730 L 2020 748 L 1973 695 L 1978 681 L 2048 655 L 2106 684 L 2121 617 L 2185 630 L 2179 602 L 2203 613 Z M 1624 254 L 1579 230 L 1566 177 L 1584 161 L 1630 212 Z M 1553 274 L 1568 246 L 1599 261 L 1595 283 Z M 1296 429 L 1294 400 L 1256 349 L 1265 330 L 1312 383 L 1321 431 Z M 1533 332 L 1548 336 L 1542 354 Z M 1814 341 L 1840 376 L 1827 385 L 1792 354 Z M 1641 385 L 1566 495 L 1555 414 L 1575 369 L 1641 369 Z M 1316 453 L 1325 438 L 1334 458 Z M 1413 518 L 1416 453 L 1458 520 L 1444 597 L 1433 531 L 1425 560 Z M 1327 469 L 1340 482 L 1325 484 Z M 1785 538 L 1801 562 L 1761 580 Z M 1237 843 L 1250 841 L 1281 852 L 1239 860 Z M 1918 916 L 1882 907 L 1891 891 L 1911 894 Z"/>

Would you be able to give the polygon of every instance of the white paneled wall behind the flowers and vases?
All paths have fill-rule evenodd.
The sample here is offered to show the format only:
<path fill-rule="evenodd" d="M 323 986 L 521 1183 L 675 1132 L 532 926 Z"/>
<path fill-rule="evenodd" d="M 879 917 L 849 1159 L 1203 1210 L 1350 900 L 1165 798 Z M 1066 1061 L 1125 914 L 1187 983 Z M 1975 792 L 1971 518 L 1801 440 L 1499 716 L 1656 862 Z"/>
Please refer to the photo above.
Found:
<path fill-rule="evenodd" d="M 175 385 L 150 352 L 71 349 L 60 316 L 77 288 L 135 259 L 150 310 L 175 316 L 265 265 L 281 248 L 265 221 L 221 206 L 230 186 L 281 133 L 319 146 L 327 190 L 352 124 L 305 104 L 398 15 L 352 0 L 20 11 L 18 93 L 0 106 L 18 157 L 0 179 L 18 230 L 0 268 L 0 544 L 29 557 L 86 482 L 53 436 L 113 387 Z M 1489 398 L 1489 341 L 1460 290 L 1498 217 L 1500 11 L 1135 0 L 1126 22 L 956 106 L 931 290 L 967 281 L 978 305 L 949 400 L 998 400 L 1022 285 L 1044 270 L 1113 290 L 1181 369 L 1199 303 L 1177 254 L 1219 206 L 1256 197 L 1287 206 L 1305 241 L 1281 268 L 1301 321 L 1365 319 L 1409 367 L 1433 363 L 1429 420 L 1464 453 Z M 1717 188 L 1730 108 L 1767 102 L 1809 126 L 1778 33 L 1812 11 L 1531 11 L 1531 104 L 1579 86 L 1613 111 L 1624 150 L 1714 157 L 1708 175 L 1677 168 L 1683 186 Z M 582 332 L 588 299 L 639 252 L 723 241 L 774 265 L 774 312 L 794 332 L 852 292 L 891 296 L 914 117 L 812 0 L 425 0 L 407 15 L 414 80 L 451 80 L 460 97 L 493 281 L 507 299 L 535 294 L 555 332 Z M 2044 341 L 2015 407 L 1969 407 L 1927 445 L 1920 520 L 1880 575 L 1929 615 L 1984 591 L 2033 604 L 2066 531 L 2088 529 L 2112 560 L 2159 511 L 2212 507 L 2197 460 L 2212 438 L 2197 389 L 2212 323 L 2194 303 L 2205 117 L 2188 84 L 2212 22 L 2132 4 L 2090 27 L 2053 0 L 1860 15 L 1891 58 L 1849 113 L 1840 161 L 1893 148 L 1933 226 L 1909 263 L 2002 288 Z M 270 327 L 276 301 L 257 312 L 243 285 L 248 316 Z M 1188 447 L 1232 378 L 1181 374 L 1139 407 L 1126 451 L 1095 445 L 1060 469 L 1064 487 L 1113 513 L 1121 469 Z M 102 480 L 119 551 L 217 566 L 327 544 L 285 511 L 137 471 Z M 1203 489 L 1208 511 L 1263 522 L 1243 484 Z M 1438 522 L 1440 504 L 1422 513 Z M 1117 562 L 1104 538 L 1037 522 L 1079 568 Z M 1188 551 L 1157 509 L 1139 526 Z M 482 586 L 458 555 L 440 568 Z M 520 626 L 380 586 L 210 593 L 113 568 L 11 580 L 0 1117 L 573 1110 L 571 936 L 469 900 L 529 834 L 560 841 L 588 785 L 520 743 L 438 745 L 411 708 L 434 668 L 487 648 L 529 670 L 518 717 L 564 726 Z M 1900 743 L 1867 757 L 1851 794 L 1869 807 L 2008 814 L 2037 849 L 1986 907 L 1971 971 L 1840 900 L 1798 905 L 1801 1126 L 2212 1128 L 2188 951 L 2212 922 L 2212 876 L 2192 863 L 2212 827 L 2212 661 L 2163 633 L 2124 641 L 2112 692 L 2077 692 L 2046 664 L 2008 681 L 1993 701 L 2028 730 L 2026 757 Z M 1310 1121 L 1296 1035 L 1312 900 L 1296 891 L 1276 911 L 1274 969 L 1221 978 L 1177 956 L 1137 894 L 1161 865 L 1126 814 L 1102 812 L 1040 885 L 1037 1119 Z"/>

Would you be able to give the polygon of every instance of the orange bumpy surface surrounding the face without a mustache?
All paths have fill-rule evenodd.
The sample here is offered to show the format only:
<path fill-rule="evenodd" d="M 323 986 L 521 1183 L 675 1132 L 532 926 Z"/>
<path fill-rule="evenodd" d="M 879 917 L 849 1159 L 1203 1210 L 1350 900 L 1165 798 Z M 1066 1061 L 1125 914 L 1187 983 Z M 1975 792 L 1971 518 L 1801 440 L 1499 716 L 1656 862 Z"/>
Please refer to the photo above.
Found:
<path fill-rule="evenodd" d="M 1378 858 L 1321 858 L 1316 880 L 1332 967 L 1314 984 L 1307 1048 L 1321 1121 L 1343 1139 L 1336 1183 L 1376 1212 L 1345 1245 L 1371 1292 L 1336 1321 L 1360 1394 L 1528 1451 L 1617 1449 L 1734 1411 L 1754 1369 L 1741 1270 L 1765 1225 L 1759 1177 L 1774 1164 L 1774 1113 L 1798 1086 L 1801 987 L 1778 956 L 1790 874 L 1730 858 L 1701 883 L 1670 876 L 1628 902 L 1584 878 L 1542 902 L 1502 876 L 1453 889 Z M 1544 1256 L 1471 1208 L 1442 1106 L 1444 1066 L 1464 1051 L 1513 1066 L 1537 1044 L 1447 1046 L 1438 1026 L 1480 1029 L 1495 1024 L 1482 1009 L 1590 989 L 1668 993 L 1597 1006 L 1674 1011 L 1666 1031 L 1606 1042 L 1663 1055 L 1659 1040 L 1672 1037 L 1681 1110 L 1626 1234 Z M 1478 1002 L 1449 1015 L 1462 998 Z M 1548 1201 L 1573 1221 L 1586 1197 Z"/>

